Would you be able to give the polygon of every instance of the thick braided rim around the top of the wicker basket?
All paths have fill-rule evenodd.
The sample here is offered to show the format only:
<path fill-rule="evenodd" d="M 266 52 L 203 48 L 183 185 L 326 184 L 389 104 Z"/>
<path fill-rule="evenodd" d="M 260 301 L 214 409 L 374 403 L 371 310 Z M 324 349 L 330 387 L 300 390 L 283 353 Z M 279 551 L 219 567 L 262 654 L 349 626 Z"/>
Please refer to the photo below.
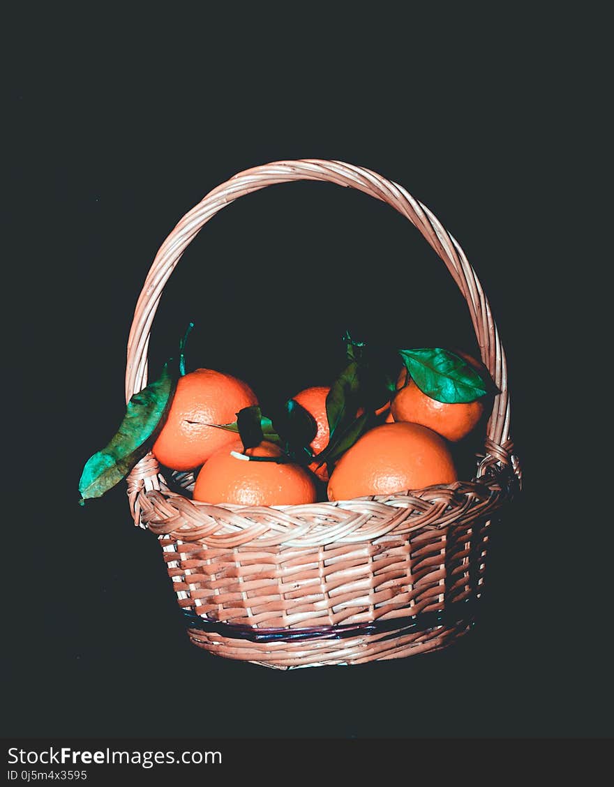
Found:
<path fill-rule="evenodd" d="M 164 484 L 139 490 L 139 524 L 158 538 L 220 549 L 356 544 L 488 519 L 519 489 L 512 463 L 491 464 L 485 475 L 470 482 L 286 506 L 203 503 Z"/>

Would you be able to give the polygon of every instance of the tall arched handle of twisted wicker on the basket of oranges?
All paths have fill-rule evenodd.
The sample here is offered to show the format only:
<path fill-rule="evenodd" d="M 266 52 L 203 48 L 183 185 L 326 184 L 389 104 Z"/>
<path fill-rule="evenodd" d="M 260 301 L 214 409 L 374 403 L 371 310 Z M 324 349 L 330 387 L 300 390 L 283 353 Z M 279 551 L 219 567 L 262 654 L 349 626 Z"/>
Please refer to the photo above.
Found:
<path fill-rule="evenodd" d="M 493 412 L 486 428 L 488 436 L 486 459 L 480 470 L 482 471 L 489 463 L 509 464 L 512 460 L 516 475 L 520 476 L 516 457 L 510 456 L 512 443 L 509 440 L 509 396 L 505 353 L 490 312 L 490 305 L 475 271 L 453 236 L 449 235 L 429 209 L 413 198 L 403 187 L 370 169 L 345 164 L 342 161 L 320 159 L 275 161 L 272 164 L 247 169 L 209 191 L 198 205 L 183 216 L 153 260 L 136 304 L 128 338 L 126 401 L 147 384 L 147 349 L 153 317 L 165 283 L 190 241 L 198 235 L 216 212 L 235 199 L 266 186 L 272 186 L 274 183 L 287 183 L 292 180 L 324 180 L 337 183 L 339 186 L 354 188 L 387 202 L 411 221 L 441 257 L 467 301 L 483 363 L 501 391 L 494 397 Z M 128 478 L 128 486 L 132 487 L 129 496 L 134 498 L 136 485 L 140 488 L 145 486 L 146 489 L 160 488 L 159 480 L 157 462 L 149 455 L 135 467 Z"/>

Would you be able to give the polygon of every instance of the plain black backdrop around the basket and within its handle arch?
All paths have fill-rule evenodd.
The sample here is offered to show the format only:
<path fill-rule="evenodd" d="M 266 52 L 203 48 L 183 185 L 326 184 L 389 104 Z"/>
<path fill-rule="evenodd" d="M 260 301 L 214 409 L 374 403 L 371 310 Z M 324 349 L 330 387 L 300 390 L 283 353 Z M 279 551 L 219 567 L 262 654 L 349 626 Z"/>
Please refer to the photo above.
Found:
<path fill-rule="evenodd" d="M 14 22 L 7 736 L 612 733 L 603 537 L 578 515 L 592 470 L 558 371 L 579 224 L 559 206 L 586 150 L 570 124 L 590 103 L 579 55 L 559 46 L 573 20 L 480 17 L 481 32 L 460 16 L 434 27 L 311 13 L 300 45 L 298 23 L 264 13 L 162 14 L 155 30 L 150 16 Z M 131 317 L 161 242 L 235 172 L 298 157 L 372 168 L 435 212 L 478 272 L 508 354 L 525 490 L 493 534 L 483 619 L 443 652 L 290 672 L 216 659 L 189 644 L 124 490 L 77 505 L 84 461 L 124 412 Z M 326 382 L 346 327 L 475 348 L 464 301 L 417 231 L 322 183 L 270 187 L 205 226 L 165 288 L 150 368 L 189 320 L 192 365 L 263 398 Z"/>

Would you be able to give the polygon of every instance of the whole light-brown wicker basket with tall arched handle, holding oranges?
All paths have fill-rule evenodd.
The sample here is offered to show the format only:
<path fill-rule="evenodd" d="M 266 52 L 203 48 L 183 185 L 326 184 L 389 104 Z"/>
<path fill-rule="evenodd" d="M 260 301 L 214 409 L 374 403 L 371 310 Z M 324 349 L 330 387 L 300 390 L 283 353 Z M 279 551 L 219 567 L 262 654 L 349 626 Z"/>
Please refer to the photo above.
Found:
<path fill-rule="evenodd" d="M 209 505 L 169 490 L 146 456 L 128 477 L 135 523 L 160 540 L 194 645 L 268 667 L 393 659 L 449 645 L 475 620 L 490 520 L 520 465 L 509 439 L 505 354 L 460 246 L 396 183 L 339 161 L 277 161 L 213 189 L 168 235 L 147 275 L 128 341 L 126 400 L 147 382 L 150 328 L 183 251 L 216 212 L 274 183 L 324 180 L 370 194 L 409 219 L 467 301 L 500 394 L 471 482 L 412 493 L 274 508 Z M 187 492 L 191 474 L 174 474 Z"/>

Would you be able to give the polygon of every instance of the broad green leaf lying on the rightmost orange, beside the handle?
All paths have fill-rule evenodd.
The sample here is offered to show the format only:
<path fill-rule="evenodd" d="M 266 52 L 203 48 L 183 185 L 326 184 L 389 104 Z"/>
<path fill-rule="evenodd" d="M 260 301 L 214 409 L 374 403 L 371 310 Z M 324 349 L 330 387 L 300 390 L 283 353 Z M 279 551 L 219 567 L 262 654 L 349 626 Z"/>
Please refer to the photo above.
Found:
<path fill-rule="evenodd" d="M 409 374 L 423 393 L 447 404 L 475 401 L 492 390 L 463 358 L 441 347 L 399 350 Z"/>

